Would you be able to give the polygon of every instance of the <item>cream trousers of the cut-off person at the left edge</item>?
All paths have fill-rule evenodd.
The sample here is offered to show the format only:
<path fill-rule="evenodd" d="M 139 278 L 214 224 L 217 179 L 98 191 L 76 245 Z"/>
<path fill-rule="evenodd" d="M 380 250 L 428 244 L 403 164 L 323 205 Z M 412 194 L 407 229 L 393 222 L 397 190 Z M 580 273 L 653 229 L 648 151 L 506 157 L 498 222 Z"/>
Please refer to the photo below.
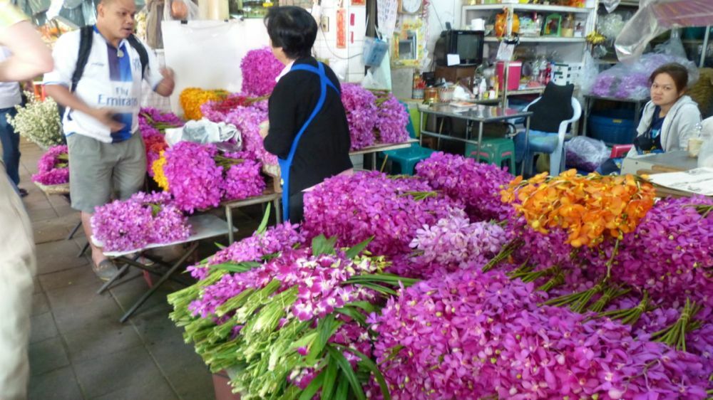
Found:
<path fill-rule="evenodd" d="M 0 162 L 0 400 L 27 397 L 34 273 L 30 221 Z"/>

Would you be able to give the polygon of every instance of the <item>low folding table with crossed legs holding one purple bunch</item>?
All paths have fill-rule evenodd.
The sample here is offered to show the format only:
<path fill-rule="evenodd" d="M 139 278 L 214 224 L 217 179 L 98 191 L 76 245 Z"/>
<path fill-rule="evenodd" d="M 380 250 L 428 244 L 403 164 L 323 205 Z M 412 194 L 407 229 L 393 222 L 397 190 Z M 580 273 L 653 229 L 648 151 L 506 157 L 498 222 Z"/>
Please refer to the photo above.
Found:
<path fill-rule="evenodd" d="M 131 251 L 112 251 L 104 253 L 105 256 L 117 260 L 118 263 L 123 264 L 123 266 L 119 269 L 119 272 L 114 275 L 113 278 L 108 280 L 101 288 L 99 288 L 97 294 L 103 293 L 104 290 L 107 290 L 109 287 L 111 287 L 112 283 L 114 283 L 121 275 L 123 275 L 123 273 L 125 273 L 131 266 L 160 276 L 159 280 L 154 283 L 151 288 L 149 288 L 149 290 L 147 290 L 146 293 L 144 293 L 141 298 L 129 308 L 127 312 L 125 312 L 125 314 L 119 319 L 120 322 L 124 322 L 125 320 L 127 320 L 128 317 L 130 317 L 138 309 L 138 307 L 140 307 L 146 300 L 148 300 L 148 298 L 153 295 L 153 293 L 158 290 L 160 285 L 163 285 L 166 280 L 176 280 L 175 278 L 172 278 L 173 273 L 175 273 L 175 271 L 178 270 L 178 268 L 180 268 L 183 263 L 185 263 L 185 260 L 188 260 L 188 257 L 190 257 L 191 254 L 195 253 L 196 249 L 198 249 L 199 241 L 201 241 L 202 239 L 213 238 L 215 236 L 227 235 L 227 233 L 229 232 L 226 221 L 223 221 L 217 216 L 210 214 L 190 216 L 188 218 L 188 223 L 191 226 L 192 233 L 188 238 L 183 241 L 175 241 L 173 243 L 150 244 L 148 246 L 145 246 L 144 248 L 137 248 Z M 92 240 L 96 243 L 95 238 L 92 238 Z M 157 270 L 152 265 L 145 265 L 143 263 L 138 262 L 138 256 L 135 256 L 141 251 L 145 251 L 150 248 L 161 248 L 185 243 L 190 243 L 190 246 L 185 249 L 183 255 L 180 256 L 180 258 L 175 263 L 166 264 L 169 268 L 165 272 Z"/>

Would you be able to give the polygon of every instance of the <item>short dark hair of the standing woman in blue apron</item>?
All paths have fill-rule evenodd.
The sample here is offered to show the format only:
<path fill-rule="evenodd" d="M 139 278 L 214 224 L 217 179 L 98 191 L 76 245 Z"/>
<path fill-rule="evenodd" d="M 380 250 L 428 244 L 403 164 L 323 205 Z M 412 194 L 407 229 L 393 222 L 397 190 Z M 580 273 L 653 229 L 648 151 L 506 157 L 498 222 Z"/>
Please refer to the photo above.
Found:
<path fill-rule="evenodd" d="M 265 16 L 272 46 L 282 47 L 289 58 L 309 57 L 317 38 L 317 21 L 297 6 L 271 7 Z"/>

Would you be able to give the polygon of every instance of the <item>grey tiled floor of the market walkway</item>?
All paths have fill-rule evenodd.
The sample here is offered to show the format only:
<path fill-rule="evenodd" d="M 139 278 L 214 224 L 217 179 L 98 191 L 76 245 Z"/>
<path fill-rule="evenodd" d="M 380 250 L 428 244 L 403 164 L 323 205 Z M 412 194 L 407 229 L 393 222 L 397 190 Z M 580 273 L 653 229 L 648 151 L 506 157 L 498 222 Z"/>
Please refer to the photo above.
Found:
<path fill-rule="evenodd" d="M 24 203 L 34 226 L 38 270 L 29 347 L 29 398 L 213 399 L 210 373 L 168 320 L 162 288 L 125 324 L 118 322 L 147 288 L 131 271 L 101 295 L 88 256 L 78 257 L 83 233 L 66 240 L 78 213 L 61 196 L 31 184 L 41 149 L 21 144 Z M 173 287 L 175 290 L 175 287 Z"/>

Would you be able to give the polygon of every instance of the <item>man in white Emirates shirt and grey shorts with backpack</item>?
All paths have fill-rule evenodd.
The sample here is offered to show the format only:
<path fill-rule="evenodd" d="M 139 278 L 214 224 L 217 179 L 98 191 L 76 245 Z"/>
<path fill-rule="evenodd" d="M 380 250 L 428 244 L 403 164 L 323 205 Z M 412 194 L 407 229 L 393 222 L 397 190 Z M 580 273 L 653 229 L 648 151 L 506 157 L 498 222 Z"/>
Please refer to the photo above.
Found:
<path fill-rule="evenodd" d="M 63 130 L 69 149 L 72 208 L 81 211 L 82 225 L 91 238 L 91 216 L 116 193 L 128 199 L 143 186 L 146 159 L 138 131 L 141 83 L 145 79 L 162 96 L 173 93 L 173 71 L 159 68 L 145 43 L 148 65 L 142 70 L 140 53 L 129 43 L 136 6 L 133 0 L 102 0 L 97 6 L 91 51 L 76 90 L 71 91 L 81 32 L 62 35 L 53 50 L 55 67 L 44 77 L 46 92 L 66 107 Z M 109 280 L 118 270 L 100 248 L 92 249 L 93 270 Z"/>

